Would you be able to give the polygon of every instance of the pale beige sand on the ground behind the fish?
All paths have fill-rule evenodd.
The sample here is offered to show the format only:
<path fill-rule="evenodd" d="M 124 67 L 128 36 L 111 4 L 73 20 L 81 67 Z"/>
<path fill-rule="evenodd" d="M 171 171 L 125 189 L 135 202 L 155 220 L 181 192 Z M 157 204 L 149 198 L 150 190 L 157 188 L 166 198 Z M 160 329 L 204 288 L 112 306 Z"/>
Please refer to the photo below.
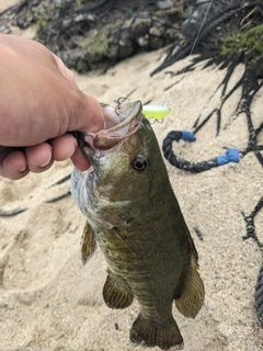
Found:
<path fill-rule="evenodd" d="M 181 77 L 167 71 L 181 69 L 190 58 L 150 78 L 165 50 L 126 59 L 105 75 L 77 76 L 80 88 L 100 101 L 114 103 L 132 91 L 129 101 L 171 104 L 163 124 L 153 124 L 161 145 L 171 129 L 193 129 L 194 122 L 220 103 L 216 91 L 225 71 L 201 67 Z M 239 79 L 239 66 L 230 86 Z M 183 78 L 183 79 L 182 79 Z M 178 82 L 171 89 L 164 88 Z M 230 89 L 230 88 L 229 88 Z M 211 97 L 213 95 L 213 97 Z M 192 161 L 224 155 L 224 147 L 240 150 L 248 144 L 244 115 L 235 107 L 240 91 L 226 103 L 222 126 L 216 137 L 216 118 L 202 128 L 194 144 L 174 145 L 175 154 Z M 262 122 L 262 91 L 252 105 L 254 126 Z M 261 141 L 262 141 L 261 135 Z M 263 331 L 256 318 L 254 288 L 262 252 L 252 239 L 243 240 L 249 215 L 262 197 L 262 166 L 252 152 L 239 163 L 192 174 L 167 161 L 169 176 L 199 253 L 206 287 L 205 304 L 192 320 L 174 307 L 185 351 L 258 351 Z M 139 307 L 112 310 L 103 302 L 106 263 L 100 250 L 82 265 L 80 237 L 84 217 L 70 196 L 46 201 L 69 190 L 69 181 L 53 186 L 72 170 L 70 161 L 57 162 L 42 174 L 20 181 L 0 178 L 0 208 L 28 210 L 0 218 L 0 350 L 142 350 L 129 341 L 129 328 Z M 255 217 L 263 240 L 263 212 Z M 194 228 L 203 234 L 198 239 Z M 145 349 L 144 349 L 145 350 Z M 153 350 L 159 350 L 155 348 Z"/>

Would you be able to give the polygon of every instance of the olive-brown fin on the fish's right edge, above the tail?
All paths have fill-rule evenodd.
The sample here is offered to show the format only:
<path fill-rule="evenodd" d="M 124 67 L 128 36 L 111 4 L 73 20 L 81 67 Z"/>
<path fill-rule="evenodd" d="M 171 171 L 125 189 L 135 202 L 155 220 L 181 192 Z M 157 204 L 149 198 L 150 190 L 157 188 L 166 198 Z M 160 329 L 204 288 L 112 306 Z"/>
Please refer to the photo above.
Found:
<path fill-rule="evenodd" d="M 196 253 L 191 254 L 190 268 L 175 305 L 179 312 L 185 316 L 195 318 L 205 299 L 205 286 L 198 273 Z"/>

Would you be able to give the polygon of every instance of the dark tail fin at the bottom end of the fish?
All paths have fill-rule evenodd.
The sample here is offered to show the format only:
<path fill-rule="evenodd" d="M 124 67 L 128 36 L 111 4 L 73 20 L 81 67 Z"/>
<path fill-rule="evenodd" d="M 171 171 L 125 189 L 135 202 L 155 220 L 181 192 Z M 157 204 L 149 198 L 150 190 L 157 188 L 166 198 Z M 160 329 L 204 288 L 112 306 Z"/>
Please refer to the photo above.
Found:
<path fill-rule="evenodd" d="M 183 349 L 183 338 L 173 318 L 168 325 L 157 326 L 139 314 L 130 329 L 129 338 L 133 342 L 141 343 L 145 347 L 157 346 L 162 350 L 169 350 L 176 346 L 176 350 Z"/>

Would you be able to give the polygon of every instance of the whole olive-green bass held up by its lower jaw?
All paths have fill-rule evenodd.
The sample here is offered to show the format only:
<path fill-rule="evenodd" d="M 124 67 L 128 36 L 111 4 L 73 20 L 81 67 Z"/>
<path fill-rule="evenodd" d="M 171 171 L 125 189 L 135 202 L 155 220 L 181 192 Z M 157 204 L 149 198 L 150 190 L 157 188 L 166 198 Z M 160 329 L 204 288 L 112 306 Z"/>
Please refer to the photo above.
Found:
<path fill-rule="evenodd" d="M 105 304 L 126 308 L 138 301 L 134 343 L 181 349 L 173 302 L 185 317 L 202 308 L 198 254 L 141 102 L 117 101 L 104 111 L 110 127 L 78 133 L 90 169 L 71 174 L 72 197 L 87 218 L 82 262 L 99 244 L 107 262 Z"/>

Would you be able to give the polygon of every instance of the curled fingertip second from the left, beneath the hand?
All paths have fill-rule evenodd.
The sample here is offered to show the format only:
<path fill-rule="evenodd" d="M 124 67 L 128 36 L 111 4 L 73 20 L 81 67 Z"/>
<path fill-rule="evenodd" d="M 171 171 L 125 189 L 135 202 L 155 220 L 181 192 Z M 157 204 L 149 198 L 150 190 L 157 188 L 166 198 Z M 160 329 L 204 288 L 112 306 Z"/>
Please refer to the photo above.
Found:
<path fill-rule="evenodd" d="M 39 173 L 53 165 L 52 146 L 43 143 L 36 146 L 30 146 L 25 149 L 27 169 L 34 173 Z"/>

